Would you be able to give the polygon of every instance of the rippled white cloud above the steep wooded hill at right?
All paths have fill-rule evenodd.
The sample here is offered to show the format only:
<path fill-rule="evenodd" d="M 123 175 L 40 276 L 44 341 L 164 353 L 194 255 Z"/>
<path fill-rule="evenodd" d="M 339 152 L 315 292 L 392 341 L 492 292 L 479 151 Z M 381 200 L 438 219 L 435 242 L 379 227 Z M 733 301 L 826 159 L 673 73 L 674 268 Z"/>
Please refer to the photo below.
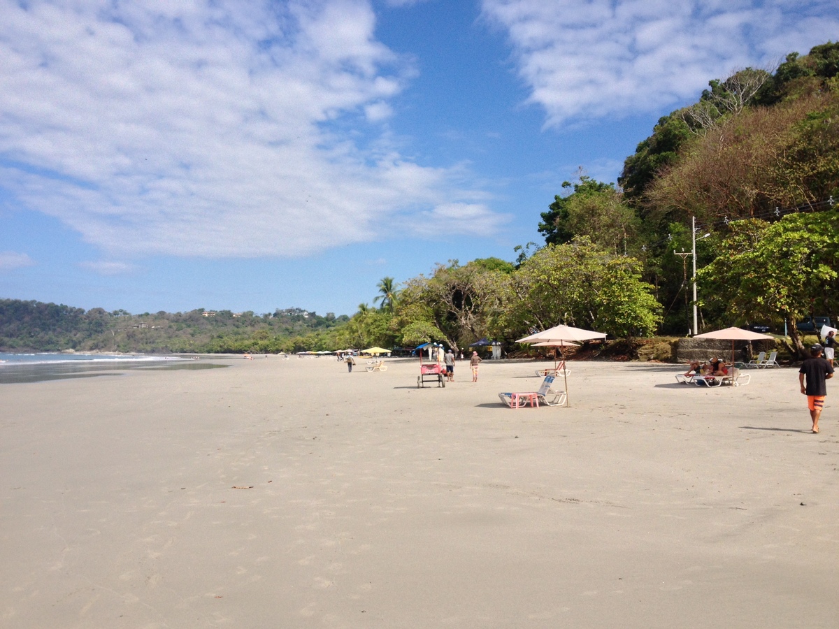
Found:
<path fill-rule="evenodd" d="M 678 107 L 839 32 L 835 0 L 483 0 L 483 13 L 548 126 Z"/>

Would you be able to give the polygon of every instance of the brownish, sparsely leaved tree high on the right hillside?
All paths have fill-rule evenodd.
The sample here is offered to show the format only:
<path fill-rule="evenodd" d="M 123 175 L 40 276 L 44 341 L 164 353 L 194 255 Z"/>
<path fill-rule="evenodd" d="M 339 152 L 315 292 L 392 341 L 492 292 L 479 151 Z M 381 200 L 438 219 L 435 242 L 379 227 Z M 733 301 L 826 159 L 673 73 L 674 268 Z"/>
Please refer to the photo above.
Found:
<path fill-rule="evenodd" d="M 839 190 L 839 92 L 743 111 L 695 138 L 647 189 L 649 216 L 706 225 Z"/>

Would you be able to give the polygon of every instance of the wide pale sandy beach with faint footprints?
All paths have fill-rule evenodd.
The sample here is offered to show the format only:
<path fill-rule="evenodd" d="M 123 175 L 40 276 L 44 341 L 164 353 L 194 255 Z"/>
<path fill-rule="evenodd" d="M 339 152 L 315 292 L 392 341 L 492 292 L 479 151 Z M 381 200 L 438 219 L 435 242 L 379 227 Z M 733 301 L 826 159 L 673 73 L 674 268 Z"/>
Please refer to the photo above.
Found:
<path fill-rule="evenodd" d="M 839 626 L 832 383 L 209 362 L 0 385 L 3 627 Z"/>

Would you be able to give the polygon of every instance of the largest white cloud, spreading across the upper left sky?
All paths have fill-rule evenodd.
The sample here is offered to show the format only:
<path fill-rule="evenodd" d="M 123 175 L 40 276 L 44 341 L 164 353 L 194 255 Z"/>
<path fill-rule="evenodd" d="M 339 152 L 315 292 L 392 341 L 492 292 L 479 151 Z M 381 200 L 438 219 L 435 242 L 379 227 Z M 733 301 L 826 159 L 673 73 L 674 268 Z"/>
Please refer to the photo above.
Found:
<path fill-rule="evenodd" d="M 374 39 L 367 0 L 0 15 L 0 181 L 107 254 L 301 255 L 459 194 L 370 127 L 413 69 Z"/>

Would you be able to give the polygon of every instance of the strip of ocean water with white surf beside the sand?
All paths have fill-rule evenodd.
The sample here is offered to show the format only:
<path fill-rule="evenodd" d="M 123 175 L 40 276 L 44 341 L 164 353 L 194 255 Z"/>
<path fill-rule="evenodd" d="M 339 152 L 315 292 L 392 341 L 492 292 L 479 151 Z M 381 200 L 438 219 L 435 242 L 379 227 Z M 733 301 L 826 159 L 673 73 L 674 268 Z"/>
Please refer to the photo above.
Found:
<path fill-rule="evenodd" d="M 131 369 L 212 369 L 219 365 L 181 356 L 143 354 L 13 354 L 0 352 L 0 385 L 69 378 L 114 377 Z"/>

